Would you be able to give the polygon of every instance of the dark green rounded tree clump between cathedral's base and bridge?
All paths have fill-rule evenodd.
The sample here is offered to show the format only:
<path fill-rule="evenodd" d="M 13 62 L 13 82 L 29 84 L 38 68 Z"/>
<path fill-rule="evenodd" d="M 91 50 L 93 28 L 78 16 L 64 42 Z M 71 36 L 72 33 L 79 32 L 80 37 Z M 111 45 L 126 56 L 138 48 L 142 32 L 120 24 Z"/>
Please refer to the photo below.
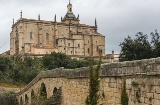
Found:
<path fill-rule="evenodd" d="M 63 53 L 53 52 L 50 55 L 46 55 L 43 58 L 43 65 L 46 69 L 55 69 L 59 67 L 64 67 L 66 69 L 74 69 L 80 67 L 88 66 L 89 59 L 85 58 L 83 60 L 72 59 Z M 93 60 L 95 65 L 97 62 Z"/>

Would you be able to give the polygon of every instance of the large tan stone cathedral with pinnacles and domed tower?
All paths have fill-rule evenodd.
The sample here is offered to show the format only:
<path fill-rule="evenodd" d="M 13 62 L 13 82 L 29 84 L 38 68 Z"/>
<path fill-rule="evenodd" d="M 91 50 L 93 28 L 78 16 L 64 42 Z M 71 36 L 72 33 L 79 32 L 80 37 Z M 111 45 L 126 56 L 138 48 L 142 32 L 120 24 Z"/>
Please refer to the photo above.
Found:
<path fill-rule="evenodd" d="M 45 55 L 61 52 L 73 57 L 105 56 L 105 36 L 98 33 L 97 21 L 90 26 L 81 24 L 75 16 L 72 4 L 67 5 L 67 13 L 57 22 L 27 19 L 22 17 L 12 25 L 10 33 L 10 55 Z"/>

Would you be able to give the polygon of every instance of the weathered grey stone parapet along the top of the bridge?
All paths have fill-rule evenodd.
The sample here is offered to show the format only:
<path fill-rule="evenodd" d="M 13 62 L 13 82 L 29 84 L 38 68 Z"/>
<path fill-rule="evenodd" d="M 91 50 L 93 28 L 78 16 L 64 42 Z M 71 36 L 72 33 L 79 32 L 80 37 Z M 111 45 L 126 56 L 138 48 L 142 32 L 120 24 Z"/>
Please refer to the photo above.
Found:
<path fill-rule="evenodd" d="M 94 66 L 94 68 L 96 68 L 96 66 Z M 88 83 L 88 80 L 86 79 L 88 78 L 88 75 L 89 75 L 88 71 L 89 71 L 89 67 L 82 67 L 82 68 L 76 68 L 76 69 L 64 69 L 61 67 L 54 70 L 43 71 L 39 75 L 37 75 L 22 91 L 20 91 L 17 94 L 17 96 L 20 96 L 23 93 L 27 94 L 27 91 L 31 87 L 33 87 L 35 84 L 37 84 L 38 81 L 42 79 L 47 79 L 47 78 L 65 78 L 65 79 L 69 79 L 69 81 L 77 79 L 77 83 L 78 83 L 78 80 L 85 79 L 85 82 Z M 140 75 L 141 77 L 142 76 L 147 76 L 147 77 L 159 76 L 160 75 L 160 58 L 106 63 L 101 65 L 100 76 L 104 78 L 105 81 L 108 81 L 108 78 L 112 78 L 112 77 L 121 78 L 124 75 L 128 76 L 129 78 L 137 75 Z M 69 81 L 68 83 L 70 83 Z M 121 79 L 118 82 L 109 83 L 109 84 L 115 84 L 115 85 L 117 85 L 116 83 L 121 84 L 122 82 L 120 81 Z M 128 85 L 131 85 L 131 79 L 128 79 L 127 81 L 130 81 Z M 155 81 L 157 81 L 157 79 L 155 79 Z M 80 83 L 83 83 L 83 82 L 80 82 Z M 106 84 L 106 82 L 102 82 L 102 83 Z M 62 81 L 62 84 L 64 84 L 63 81 Z M 113 85 L 109 85 L 109 86 L 111 86 L 111 88 L 118 88 L 118 87 L 114 87 Z M 122 85 L 119 86 L 120 89 L 121 89 L 121 86 Z M 67 88 L 67 86 L 65 88 Z M 105 86 L 103 88 L 105 88 Z"/>

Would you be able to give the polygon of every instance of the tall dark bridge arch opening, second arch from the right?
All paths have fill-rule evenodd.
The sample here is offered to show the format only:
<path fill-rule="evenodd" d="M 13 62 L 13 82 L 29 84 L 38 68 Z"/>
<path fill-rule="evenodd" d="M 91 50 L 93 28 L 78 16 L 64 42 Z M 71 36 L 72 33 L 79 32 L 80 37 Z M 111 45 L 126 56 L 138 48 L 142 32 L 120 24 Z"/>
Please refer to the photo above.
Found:
<path fill-rule="evenodd" d="M 42 101 L 47 99 L 47 90 L 46 90 L 46 86 L 44 83 L 41 83 L 39 99 Z"/>

